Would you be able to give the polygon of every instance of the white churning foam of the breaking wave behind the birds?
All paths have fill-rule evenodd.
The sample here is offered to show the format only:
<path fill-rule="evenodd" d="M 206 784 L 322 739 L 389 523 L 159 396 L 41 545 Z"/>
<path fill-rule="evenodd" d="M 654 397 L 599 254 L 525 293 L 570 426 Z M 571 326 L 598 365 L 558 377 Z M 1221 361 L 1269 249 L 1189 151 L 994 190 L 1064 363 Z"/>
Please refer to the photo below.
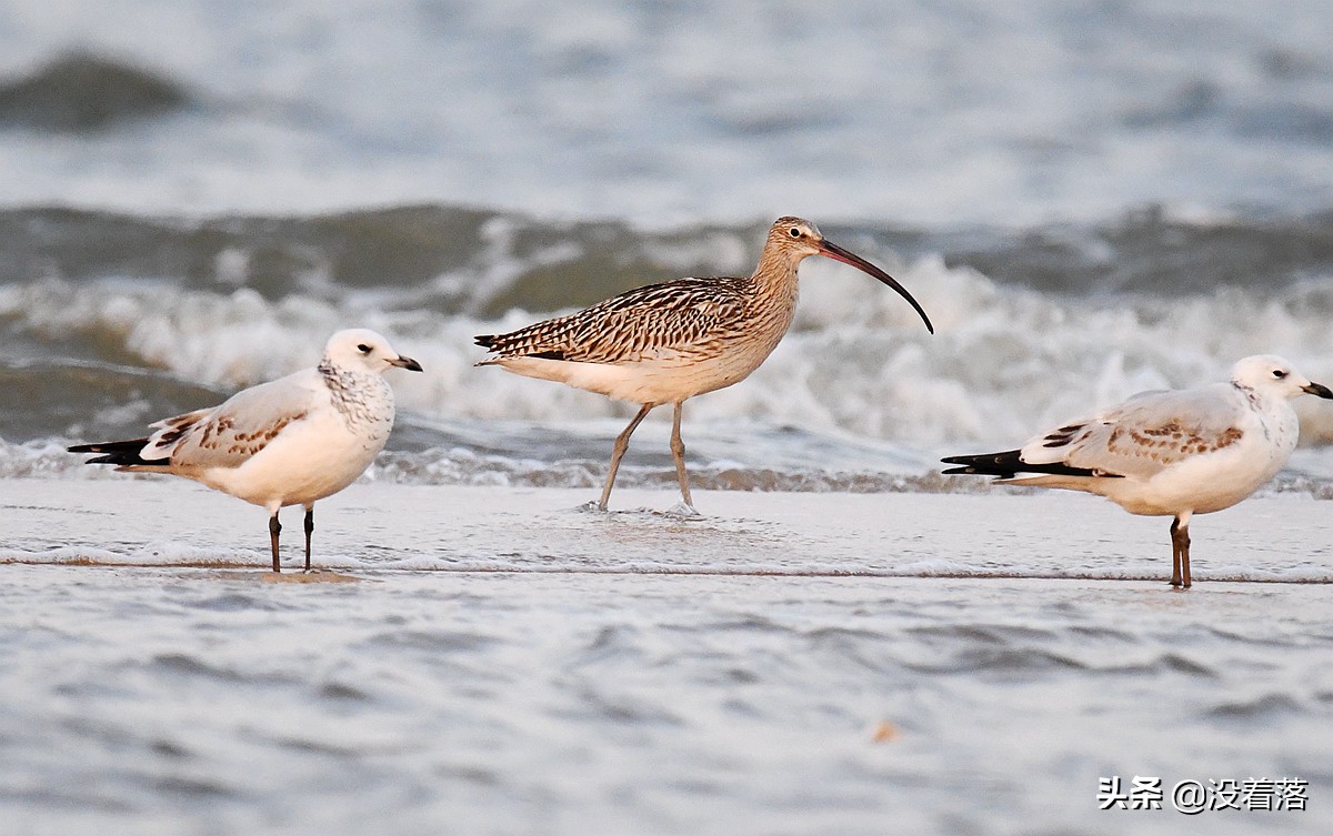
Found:
<path fill-rule="evenodd" d="M 890 265 L 892 266 L 892 265 Z M 929 335 L 902 301 L 832 264 L 802 269 L 797 319 L 750 378 L 686 406 L 692 425 L 736 419 L 934 449 L 1004 445 L 1145 389 L 1224 379 L 1254 353 L 1278 353 L 1333 381 L 1333 331 L 1310 288 L 1224 289 L 1185 297 L 1061 297 L 1000 288 L 926 258 L 896 276 L 937 323 Z M 372 327 L 428 370 L 397 385 L 403 409 L 475 421 L 584 422 L 627 407 L 491 369 L 472 335 L 500 321 L 393 310 L 352 298 L 249 289 L 219 294 L 132 282 L 45 280 L 0 286 L 0 315 L 52 338 L 88 334 L 143 365 L 236 389 L 309 365 L 339 327 Z M 1298 403 L 1305 443 L 1333 441 L 1333 411 Z M 664 421 L 653 417 L 653 421 Z"/>

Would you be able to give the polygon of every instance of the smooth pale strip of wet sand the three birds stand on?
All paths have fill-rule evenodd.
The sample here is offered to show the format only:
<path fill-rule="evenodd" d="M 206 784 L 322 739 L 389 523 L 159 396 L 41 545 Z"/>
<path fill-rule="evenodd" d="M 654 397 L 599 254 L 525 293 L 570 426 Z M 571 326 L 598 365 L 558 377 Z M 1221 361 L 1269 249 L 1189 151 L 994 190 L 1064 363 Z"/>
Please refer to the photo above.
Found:
<path fill-rule="evenodd" d="M 339 572 L 516 572 L 778 578 L 1162 582 L 1169 518 L 1097 497 L 355 485 L 316 506 L 315 567 Z M 1192 527 L 1204 583 L 1333 583 L 1333 523 L 1306 495 L 1252 498 Z M 664 509 L 664 510 L 657 510 Z M 300 509 L 288 509 L 284 517 Z M 964 522 L 969 521 L 969 522 Z M 265 514 L 181 479 L 0 481 L 0 564 L 261 568 Z M 284 567 L 301 552 L 287 527 Z M 1197 588 L 1197 586 L 1196 586 Z"/>

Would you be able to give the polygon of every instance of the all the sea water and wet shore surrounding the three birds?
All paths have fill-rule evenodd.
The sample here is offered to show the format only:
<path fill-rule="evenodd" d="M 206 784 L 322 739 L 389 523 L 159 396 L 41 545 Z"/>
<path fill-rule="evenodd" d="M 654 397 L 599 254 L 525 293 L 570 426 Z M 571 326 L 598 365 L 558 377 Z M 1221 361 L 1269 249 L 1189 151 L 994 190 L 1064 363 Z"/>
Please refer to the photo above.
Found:
<path fill-rule="evenodd" d="M 1333 407 L 1188 594 L 1165 521 L 937 458 L 1254 353 L 1333 385 L 1330 41 L 1317 0 L 0 8 L 0 829 L 1329 832 Z M 702 519 L 661 415 L 576 511 L 635 407 L 472 337 L 744 274 L 781 214 L 937 333 L 812 258 L 685 406 Z M 308 583 L 263 511 L 64 451 L 348 326 L 427 373 Z"/>

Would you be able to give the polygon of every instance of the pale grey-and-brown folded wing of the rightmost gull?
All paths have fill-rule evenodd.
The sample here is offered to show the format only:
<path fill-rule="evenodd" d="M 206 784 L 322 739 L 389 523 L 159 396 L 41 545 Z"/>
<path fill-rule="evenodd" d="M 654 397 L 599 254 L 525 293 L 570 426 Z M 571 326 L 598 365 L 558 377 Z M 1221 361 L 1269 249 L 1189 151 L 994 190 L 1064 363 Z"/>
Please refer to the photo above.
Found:
<path fill-rule="evenodd" d="M 1020 459 L 1104 475 L 1152 477 L 1169 465 L 1238 442 L 1245 435 L 1244 406 L 1230 383 L 1144 393 L 1029 439 Z"/>

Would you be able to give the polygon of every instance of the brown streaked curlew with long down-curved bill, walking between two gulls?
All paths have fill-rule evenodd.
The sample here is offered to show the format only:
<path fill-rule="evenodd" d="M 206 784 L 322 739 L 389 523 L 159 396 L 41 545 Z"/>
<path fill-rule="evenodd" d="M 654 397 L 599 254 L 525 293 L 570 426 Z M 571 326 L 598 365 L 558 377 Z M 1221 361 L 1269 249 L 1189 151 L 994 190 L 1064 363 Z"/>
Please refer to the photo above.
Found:
<path fill-rule="evenodd" d="M 631 434 L 653 407 L 673 403 L 670 451 L 681 499 L 693 514 L 680 438 L 685 399 L 744 381 L 777 347 L 796 313 L 796 269 L 809 256 L 849 264 L 893 288 L 934 333 L 917 301 L 888 273 L 824 238 L 814 224 L 781 217 L 768 230 L 758 266 L 748 277 L 647 285 L 508 334 L 483 334 L 477 345 L 496 357 L 477 365 L 496 365 L 640 405 L 616 438 L 597 503 L 601 511 L 607 510 Z"/>

